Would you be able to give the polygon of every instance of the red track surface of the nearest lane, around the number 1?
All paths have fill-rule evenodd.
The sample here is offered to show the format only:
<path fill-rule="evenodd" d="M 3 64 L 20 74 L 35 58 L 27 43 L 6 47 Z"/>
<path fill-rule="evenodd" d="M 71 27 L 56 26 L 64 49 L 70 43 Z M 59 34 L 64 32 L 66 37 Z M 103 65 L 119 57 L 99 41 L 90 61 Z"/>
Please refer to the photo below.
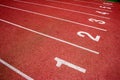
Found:
<path fill-rule="evenodd" d="M 3 22 L 0 22 L 0 24 L 2 25 L 0 33 L 3 37 L 0 38 L 0 43 L 2 43 L 1 58 L 26 74 L 30 74 L 35 80 L 119 79 L 119 74 L 116 73 L 116 69 L 119 68 L 119 56 L 115 55 L 119 49 L 115 48 L 115 43 L 114 46 L 110 46 L 111 44 L 104 45 L 104 48 L 109 46 L 109 49 L 105 49 L 103 54 L 96 56 L 85 54 L 85 51 L 24 31 L 12 25 Z M 109 36 L 108 38 L 114 37 Z M 111 43 L 111 41 L 107 41 L 107 43 Z M 64 65 L 57 68 L 55 57 L 86 68 L 87 72 L 83 74 Z M 110 73 L 107 73 L 108 71 Z M 106 74 L 110 76 L 104 77 Z"/>

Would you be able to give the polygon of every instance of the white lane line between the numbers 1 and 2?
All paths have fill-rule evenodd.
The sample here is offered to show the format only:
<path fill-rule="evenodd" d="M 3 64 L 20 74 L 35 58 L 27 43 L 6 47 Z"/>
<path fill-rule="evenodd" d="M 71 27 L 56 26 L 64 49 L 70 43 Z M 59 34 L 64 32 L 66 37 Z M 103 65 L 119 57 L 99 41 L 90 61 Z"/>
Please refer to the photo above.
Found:
<path fill-rule="evenodd" d="M 38 32 L 38 31 L 35 31 L 35 30 L 32 30 L 32 29 L 29 29 L 29 28 L 26 28 L 26 27 L 24 27 L 24 26 L 21 26 L 21 25 L 18 25 L 18 24 L 9 22 L 9 21 L 7 21 L 7 20 L 0 19 L 0 21 L 5 22 L 5 23 L 7 23 L 7 24 L 11 24 L 11 25 L 13 25 L 13 26 L 16 26 L 16 27 L 18 27 L 18 28 L 21 28 L 21 29 L 24 29 L 24 30 L 27 30 L 27 31 L 30 31 L 30 32 L 33 32 L 33 33 L 36 33 L 36 34 L 38 34 L 38 35 L 42 35 L 42 36 L 45 36 L 45 37 L 47 37 L 47 38 L 50 38 L 50 39 L 53 39 L 53 40 L 56 40 L 56 41 L 59 41 L 59 42 L 65 43 L 65 44 L 69 44 L 69 45 L 71 45 L 71 46 L 74 46 L 74 47 L 77 47 L 77 48 L 80 48 L 80 49 L 83 49 L 83 50 L 86 50 L 86 51 L 89 51 L 89 52 L 91 52 L 91 53 L 99 54 L 99 52 L 97 52 L 97 51 L 94 51 L 94 50 L 91 50 L 91 49 L 88 49 L 88 48 L 79 46 L 79 45 L 77 45 L 77 44 L 74 44 L 74 43 L 71 43 L 71 42 L 68 42 L 68 41 L 65 41 L 65 40 L 62 40 L 62 39 L 59 39 L 59 38 L 56 38 L 56 37 L 53 37 L 53 36 L 50 36 L 50 35 L 47 35 L 47 34 Z"/>

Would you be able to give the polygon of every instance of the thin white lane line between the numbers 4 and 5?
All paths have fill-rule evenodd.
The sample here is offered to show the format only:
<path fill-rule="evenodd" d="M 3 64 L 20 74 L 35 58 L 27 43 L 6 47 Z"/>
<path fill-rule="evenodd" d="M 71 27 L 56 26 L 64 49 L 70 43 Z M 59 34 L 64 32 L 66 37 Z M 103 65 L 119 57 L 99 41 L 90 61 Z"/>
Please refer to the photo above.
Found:
<path fill-rule="evenodd" d="M 62 4 L 69 4 L 69 5 L 73 5 L 73 6 L 79 6 L 79 7 L 84 7 L 84 8 L 91 8 L 91 9 L 97 9 L 97 10 L 112 12 L 111 10 L 100 9 L 100 8 L 95 8 L 95 7 L 88 7 L 88 6 L 83 6 L 83 5 L 80 5 L 80 4 L 73 4 L 73 3 L 62 2 L 62 1 L 56 1 L 56 0 L 46 0 L 46 1 L 49 1 L 49 2 L 56 2 L 56 3 L 62 3 Z"/>

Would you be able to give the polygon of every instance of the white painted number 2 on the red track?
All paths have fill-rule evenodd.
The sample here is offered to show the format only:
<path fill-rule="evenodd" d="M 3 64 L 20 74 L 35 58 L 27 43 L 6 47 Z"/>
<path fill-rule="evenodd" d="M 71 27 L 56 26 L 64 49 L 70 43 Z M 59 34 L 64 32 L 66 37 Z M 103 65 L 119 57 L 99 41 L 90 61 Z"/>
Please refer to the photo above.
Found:
<path fill-rule="evenodd" d="M 84 32 L 84 31 L 79 31 L 77 32 L 77 35 L 80 37 L 85 37 L 85 35 L 87 35 L 90 39 L 92 39 L 93 41 L 98 42 L 100 40 L 100 36 L 96 36 L 95 38 L 93 36 L 91 36 L 89 33 Z"/>

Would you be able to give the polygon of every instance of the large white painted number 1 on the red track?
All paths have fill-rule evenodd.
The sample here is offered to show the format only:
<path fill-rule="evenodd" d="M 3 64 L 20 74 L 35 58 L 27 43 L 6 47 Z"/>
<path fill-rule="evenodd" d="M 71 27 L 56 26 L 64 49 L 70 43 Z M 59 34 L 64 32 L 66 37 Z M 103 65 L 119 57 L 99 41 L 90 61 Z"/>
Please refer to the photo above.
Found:
<path fill-rule="evenodd" d="M 67 62 L 67 61 L 65 61 L 63 59 L 60 59 L 58 57 L 55 57 L 55 60 L 57 61 L 57 64 L 56 64 L 57 67 L 61 67 L 61 65 L 64 64 L 64 65 L 66 65 L 66 66 L 68 66 L 70 68 L 73 68 L 73 69 L 77 70 L 77 71 L 80 71 L 80 72 L 83 72 L 83 73 L 86 72 L 86 69 L 84 69 L 82 67 L 79 67 L 77 65 L 74 65 L 74 64 L 72 64 L 70 62 Z"/>

